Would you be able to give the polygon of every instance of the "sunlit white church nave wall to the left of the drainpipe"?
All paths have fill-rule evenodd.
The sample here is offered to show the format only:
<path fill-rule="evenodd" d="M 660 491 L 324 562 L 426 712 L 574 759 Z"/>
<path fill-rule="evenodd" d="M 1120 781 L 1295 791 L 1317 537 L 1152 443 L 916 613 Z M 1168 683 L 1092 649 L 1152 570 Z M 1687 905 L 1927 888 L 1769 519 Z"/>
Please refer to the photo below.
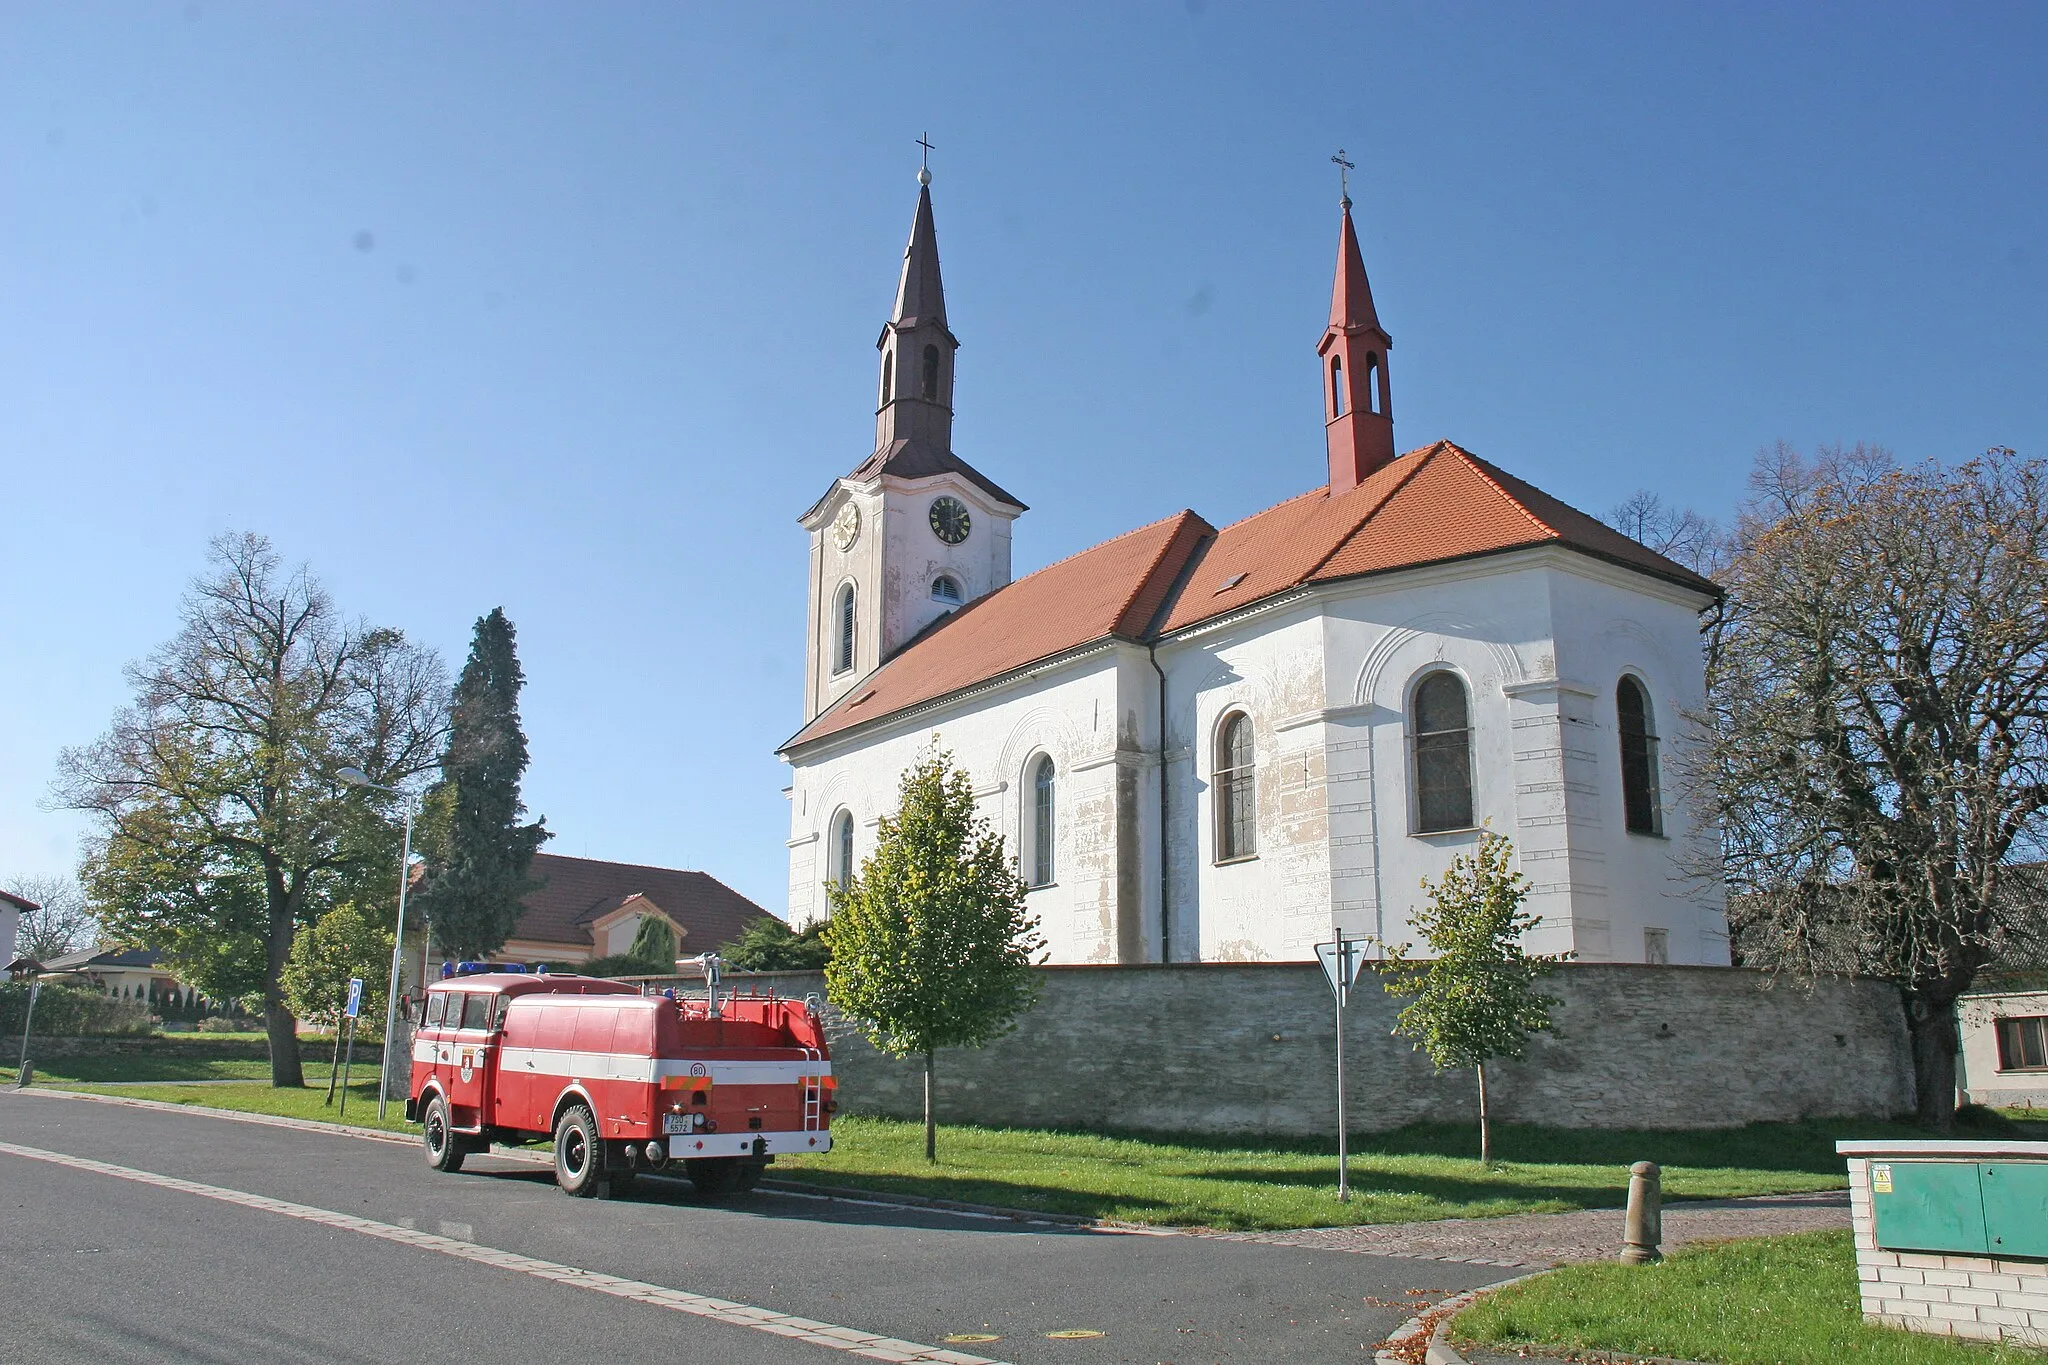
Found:
<path fill-rule="evenodd" d="M 1116 962 L 1118 659 L 1110 649 L 944 710 L 823 743 L 793 763 L 788 921 L 829 911 L 825 839 L 840 810 L 854 814 L 854 860 L 874 851 L 895 810 L 905 767 L 936 739 L 969 772 L 981 814 L 1022 849 L 1028 765 L 1055 763 L 1055 882 L 1030 892 L 1051 962 Z"/>

